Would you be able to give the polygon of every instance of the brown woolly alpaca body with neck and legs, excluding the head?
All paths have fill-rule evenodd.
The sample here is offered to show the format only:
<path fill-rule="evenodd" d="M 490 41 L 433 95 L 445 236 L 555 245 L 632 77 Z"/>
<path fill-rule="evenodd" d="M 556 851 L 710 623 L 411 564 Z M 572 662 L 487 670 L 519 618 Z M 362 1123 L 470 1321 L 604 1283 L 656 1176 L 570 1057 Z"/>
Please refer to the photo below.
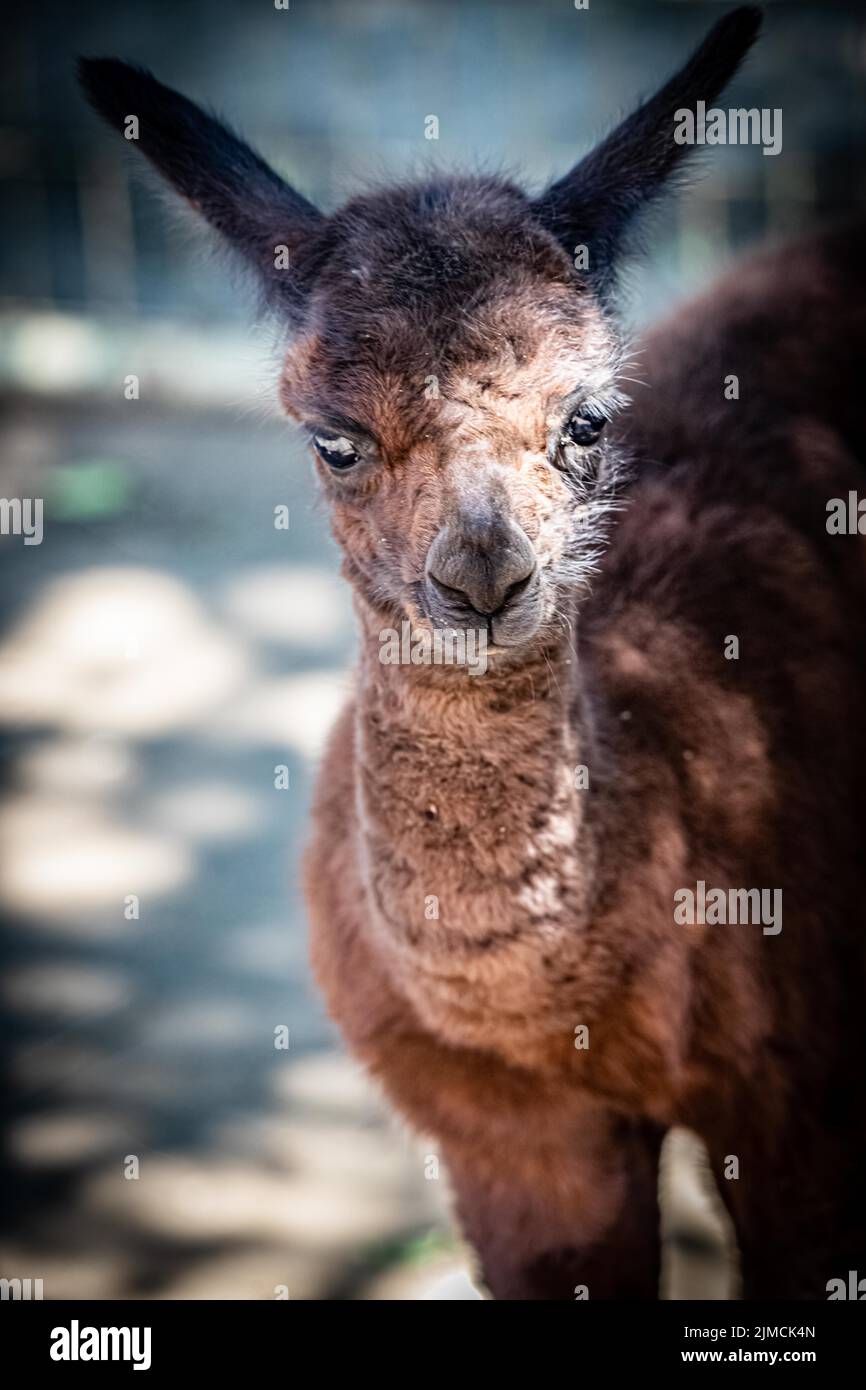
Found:
<path fill-rule="evenodd" d="M 316 966 L 439 1140 L 500 1297 L 655 1297 L 674 1123 L 709 1147 L 746 1295 L 826 1297 L 866 1255 L 866 552 L 826 527 L 862 481 L 858 281 L 827 238 L 649 339 L 627 507 L 575 638 L 517 681 L 446 695 L 364 635 L 320 778 Z M 781 890 L 783 930 L 677 924 L 698 881 Z"/>

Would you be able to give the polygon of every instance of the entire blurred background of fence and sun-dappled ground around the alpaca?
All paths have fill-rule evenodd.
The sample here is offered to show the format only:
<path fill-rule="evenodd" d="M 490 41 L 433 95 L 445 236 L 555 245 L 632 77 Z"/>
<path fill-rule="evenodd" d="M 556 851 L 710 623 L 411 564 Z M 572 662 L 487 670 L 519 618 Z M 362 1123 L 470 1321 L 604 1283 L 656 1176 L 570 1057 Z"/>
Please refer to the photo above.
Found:
<path fill-rule="evenodd" d="M 74 82 L 115 54 L 229 117 L 332 208 L 443 167 L 539 188 L 730 6 L 172 0 L 19 6 L 0 96 L 0 1276 L 46 1298 L 473 1297 L 435 1145 L 343 1056 L 297 860 L 352 621 L 275 343 Z M 657 218 L 637 325 L 752 243 L 862 210 L 866 17 L 776 3 Z M 425 139 L 436 115 L 439 139 Z M 128 399 L 128 378 L 138 399 Z M 277 528 L 275 509 L 288 525 Z M 735 1279 L 701 1155 L 663 1175 L 669 1297 Z"/>

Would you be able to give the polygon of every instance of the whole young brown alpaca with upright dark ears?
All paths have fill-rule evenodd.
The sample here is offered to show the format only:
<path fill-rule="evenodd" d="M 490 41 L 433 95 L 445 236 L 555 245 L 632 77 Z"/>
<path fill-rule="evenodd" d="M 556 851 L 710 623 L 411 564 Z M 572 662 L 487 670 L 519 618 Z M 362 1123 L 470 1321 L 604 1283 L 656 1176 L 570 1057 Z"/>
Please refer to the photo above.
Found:
<path fill-rule="evenodd" d="M 676 1125 L 744 1297 L 866 1270 L 866 569 L 827 525 L 862 481 L 862 257 L 838 232 L 746 263 L 648 336 L 649 389 L 614 313 L 689 153 L 676 113 L 758 26 L 726 15 L 539 197 L 436 177 L 329 217 L 147 74 L 82 64 L 291 329 L 279 393 L 360 628 L 306 858 L 314 967 L 435 1136 L 495 1298 L 657 1298 Z M 485 670 L 382 660 L 402 623 L 477 631 Z"/>

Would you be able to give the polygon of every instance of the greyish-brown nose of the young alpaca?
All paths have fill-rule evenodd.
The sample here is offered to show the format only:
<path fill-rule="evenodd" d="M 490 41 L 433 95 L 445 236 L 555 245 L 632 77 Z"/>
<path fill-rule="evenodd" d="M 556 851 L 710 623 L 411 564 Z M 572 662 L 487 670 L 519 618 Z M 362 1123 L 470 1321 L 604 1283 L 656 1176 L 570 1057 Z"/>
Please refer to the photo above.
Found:
<path fill-rule="evenodd" d="M 530 587 L 532 543 L 518 525 L 496 513 L 466 513 L 442 527 L 427 553 L 427 580 L 439 606 L 474 609 L 491 617 Z"/>

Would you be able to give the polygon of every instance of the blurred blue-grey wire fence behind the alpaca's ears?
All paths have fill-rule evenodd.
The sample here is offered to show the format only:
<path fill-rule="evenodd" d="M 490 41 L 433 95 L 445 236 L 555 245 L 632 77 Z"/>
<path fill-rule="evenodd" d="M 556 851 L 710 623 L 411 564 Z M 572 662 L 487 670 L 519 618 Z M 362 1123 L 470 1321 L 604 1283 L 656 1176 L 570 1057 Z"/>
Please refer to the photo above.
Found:
<path fill-rule="evenodd" d="M 4 35 L 0 306 L 228 321 L 240 300 L 167 218 L 117 136 L 86 110 L 76 53 L 120 54 L 238 121 L 325 207 L 434 158 L 562 171 L 681 61 L 727 4 L 592 0 L 49 0 Z M 663 220 L 652 311 L 766 232 L 860 204 L 862 7 L 770 4 L 737 104 L 781 108 L 784 157 L 717 147 Z M 424 120 L 439 118 L 438 140 Z"/>

